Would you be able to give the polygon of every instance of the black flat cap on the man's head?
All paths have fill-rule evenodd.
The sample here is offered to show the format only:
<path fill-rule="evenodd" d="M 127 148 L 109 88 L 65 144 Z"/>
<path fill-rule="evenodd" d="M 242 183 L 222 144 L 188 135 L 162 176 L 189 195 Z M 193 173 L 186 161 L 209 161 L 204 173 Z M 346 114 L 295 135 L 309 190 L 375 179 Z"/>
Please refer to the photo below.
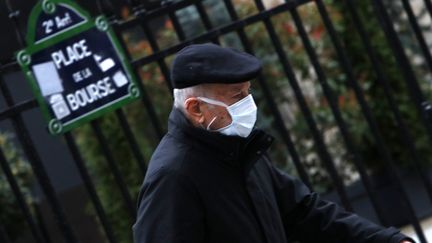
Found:
<path fill-rule="evenodd" d="M 190 45 L 177 53 L 171 82 L 182 89 L 203 83 L 241 83 L 254 79 L 261 62 L 254 56 L 215 44 Z"/>

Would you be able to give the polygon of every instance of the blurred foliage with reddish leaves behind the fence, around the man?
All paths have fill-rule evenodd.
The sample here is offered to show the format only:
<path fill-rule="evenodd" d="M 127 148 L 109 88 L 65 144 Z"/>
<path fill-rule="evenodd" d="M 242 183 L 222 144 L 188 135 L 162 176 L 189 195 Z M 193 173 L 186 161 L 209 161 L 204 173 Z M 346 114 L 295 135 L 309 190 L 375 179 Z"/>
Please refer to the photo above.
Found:
<path fill-rule="evenodd" d="M 379 130 L 388 145 L 387 148 L 390 149 L 397 164 L 402 166 L 411 164 L 410 155 L 403 141 L 401 141 L 394 116 L 386 102 L 383 89 L 373 73 L 363 44 L 354 31 L 355 28 L 351 22 L 351 17 L 347 14 L 344 1 L 327 0 L 325 2 L 327 11 L 338 32 L 338 37 L 342 41 L 352 62 L 355 78 L 365 93 L 365 98 L 377 121 Z M 385 76 L 391 83 L 392 93 L 396 94 L 395 99 L 402 112 L 402 116 L 405 122 L 410 125 L 409 129 L 415 138 L 416 147 L 425 158 L 429 158 L 430 152 L 427 150 L 429 140 L 426 138 L 426 133 L 422 130 L 421 126 L 418 125 L 418 117 L 406 93 L 405 84 L 401 79 L 402 75 L 395 64 L 393 54 L 380 30 L 379 24 L 373 16 L 372 9 L 368 5 L 369 2 L 356 1 L 356 3 L 358 5 L 357 11 L 366 27 L 369 38 L 378 52 Z M 222 9 L 225 9 L 222 1 L 205 0 L 203 4 L 208 12 L 217 9 L 217 16 L 214 16 L 215 14 L 210 16 L 214 22 L 214 26 L 220 27 L 230 23 L 231 20 L 228 14 L 225 10 L 222 11 Z M 258 12 L 251 0 L 233 0 L 233 4 L 240 18 L 246 18 Z M 274 1 L 274 4 L 277 4 L 277 1 Z M 356 148 L 362 155 L 363 163 L 371 171 L 383 168 L 385 163 L 380 156 L 379 148 L 363 117 L 361 107 L 357 103 L 352 87 L 350 87 L 347 77 L 337 59 L 336 51 L 322 23 L 315 3 L 302 5 L 297 11 L 302 19 L 311 44 L 318 55 L 319 62 L 327 77 L 326 81 L 334 93 L 334 99 L 349 126 Z M 133 18 L 127 9 L 121 12 L 123 18 Z M 176 14 L 179 17 L 187 38 L 204 33 L 205 28 L 195 8 L 189 7 L 177 11 Z M 330 110 L 327 97 L 322 92 L 315 70 L 310 64 L 309 57 L 305 52 L 290 13 L 284 12 L 278 14 L 273 16 L 270 21 L 273 23 L 284 51 L 288 56 L 290 66 L 295 73 L 306 103 L 311 110 L 320 135 L 327 145 L 327 149 L 335 162 L 339 174 L 346 183 L 353 182 L 358 178 L 358 174 L 352 164 L 351 155 L 346 151 L 339 128 Z M 173 24 L 168 18 L 158 18 L 151 23 L 151 26 L 157 26 L 154 29 L 154 34 L 159 46 L 162 48 L 178 43 Z M 310 128 L 305 121 L 303 112 L 297 105 L 293 89 L 286 78 L 284 68 L 263 22 L 248 25 L 245 28 L 245 32 L 255 55 L 264 64 L 263 74 L 266 82 L 282 113 L 284 122 L 289 128 L 291 139 L 295 143 L 301 161 L 306 166 L 307 172 L 311 177 L 314 189 L 320 192 L 331 190 L 331 180 L 328 178 L 320 157 L 316 153 L 316 146 L 310 133 Z M 132 59 L 139 59 L 153 53 L 146 35 L 139 26 L 126 30 L 122 33 L 121 37 L 127 43 L 127 49 Z M 221 36 L 219 41 L 223 46 L 242 48 L 241 41 L 236 32 Z M 166 58 L 165 64 L 169 66 L 171 60 L 172 56 Z M 152 101 L 160 124 L 166 130 L 166 121 L 171 110 L 172 98 L 166 84 L 167 77 L 164 77 L 159 65 L 160 63 L 144 65 L 137 68 L 137 73 L 140 75 L 142 84 L 145 87 L 144 95 Z M 258 82 L 253 83 L 252 92 L 259 106 L 257 125 L 279 138 L 272 148 L 271 157 L 278 166 L 289 173 L 295 174 L 296 171 L 291 157 L 287 152 L 286 145 L 282 142 L 283 139 L 280 137 L 280 132 L 275 128 L 274 117 L 268 107 L 261 87 Z M 130 128 L 136 135 L 135 138 L 138 140 L 141 151 L 148 161 L 158 143 L 159 137 L 149 122 L 150 119 L 146 108 L 141 101 L 137 101 L 123 108 L 123 110 L 127 116 Z M 117 166 L 125 178 L 129 193 L 136 200 L 144 171 L 140 170 L 116 115 L 107 115 L 97 121 L 97 123 L 99 123 L 105 137 L 109 140 L 110 149 L 115 161 L 117 161 Z M 116 237 L 120 242 L 131 242 L 131 226 L 133 222 L 125 220 L 130 217 L 124 206 L 124 200 L 91 126 L 84 126 L 77 129 L 74 133 L 77 136 L 81 151 L 86 158 L 87 165 L 96 183 L 98 195 L 103 202 L 108 218 L 113 224 Z M 89 210 L 92 209 L 90 208 Z"/>

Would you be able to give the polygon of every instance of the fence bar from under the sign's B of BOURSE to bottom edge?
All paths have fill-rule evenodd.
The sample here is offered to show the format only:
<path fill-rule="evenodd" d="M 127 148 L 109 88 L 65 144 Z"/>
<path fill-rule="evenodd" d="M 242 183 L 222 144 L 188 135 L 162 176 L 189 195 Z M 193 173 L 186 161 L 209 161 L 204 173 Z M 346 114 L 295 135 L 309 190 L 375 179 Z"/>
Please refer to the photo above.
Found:
<path fill-rule="evenodd" d="M 66 144 L 69 147 L 69 150 L 72 154 L 72 157 L 75 161 L 75 164 L 78 168 L 78 171 L 81 175 L 81 179 L 84 182 L 84 185 L 87 189 L 87 192 L 89 193 L 90 200 L 93 203 L 93 206 L 95 207 L 96 213 L 99 217 L 99 220 L 102 224 L 102 228 L 105 231 L 105 234 L 108 238 L 108 241 L 110 243 L 116 243 L 117 240 L 114 236 L 113 229 L 111 227 L 111 224 L 108 222 L 108 218 L 106 216 L 105 210 L 102 206 L 102 202 L 100 201 L 95 186 L 91 180 L 91 177 L 85 167 L 83 158 L 81 157 L 81 154 L 79 152 L 78 146 L 76 145 L 76 142 L 70 132 L 67 132 L 64 134 L 64 138 L 66 140 Z"/>

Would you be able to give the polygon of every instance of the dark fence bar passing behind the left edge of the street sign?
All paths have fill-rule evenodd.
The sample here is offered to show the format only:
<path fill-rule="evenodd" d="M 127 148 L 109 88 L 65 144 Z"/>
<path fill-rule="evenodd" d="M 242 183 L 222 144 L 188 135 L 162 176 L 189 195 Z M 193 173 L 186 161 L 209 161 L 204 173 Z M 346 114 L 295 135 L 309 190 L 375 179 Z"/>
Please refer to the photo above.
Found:
<path fill-rule="evenodd" d="M 9 13 L 14 13 L 10 0 L 6 0 L 6 8 Z M 21 46 L 24 46 L 24 38 L 19 29 L 19 25 L 17 22 L 18 15 L 13 14 L 9 16 L 12 20 L 12 24 L 15 27 L 15 34 L 17 40 Z M 0 89 L 4 95 L 4 99 L 8 106 L 13 106 L 14 101 L 11 93 L 9 92 L 9 88 L 6 86 L 4 80 L 0 80 Z M 57 224 L 62 232 L 66 242 L 75 243 L 78 242 L 78 239 L 75 236 L 75 233 L 72 230 L 72 227 L 68 220 L 66 219 L 66 214 L 64 213 L 64 209 L 60 204 L 59 199 L 56 196 L 55 190 L 52 186 L 51 180 L 49 179 L 48 174 L 46 173 L 45 166 L 42 163 L 42 160 L 39 156 L 39 153 L 36 150 L 36 147 L 33 144 L 32 139 L 30 138 L 30 133 L 27 130 L 24 121 L 21 115 L 12 117 L 12 124 L 17 132 L 18 139 L 23 146 L 23 149 L 26 155 L 29 158 L 29 161 L 32 165 L 33 171 L 41 185 L 42 191 L 47 197 L 48 203 L 50 204 Z"/>

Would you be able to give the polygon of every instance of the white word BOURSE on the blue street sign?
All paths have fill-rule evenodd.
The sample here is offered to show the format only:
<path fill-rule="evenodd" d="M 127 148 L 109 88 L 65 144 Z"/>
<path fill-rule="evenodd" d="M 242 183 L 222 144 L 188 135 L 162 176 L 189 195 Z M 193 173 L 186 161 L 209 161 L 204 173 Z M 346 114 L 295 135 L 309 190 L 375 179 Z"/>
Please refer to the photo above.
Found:
<path fill-rule="evenodd" d="M 110 78 L 106 77 L 102 80 L 87 85 L 85 88 L 79 89 L 74 93 L 66 95 L 69 107 L 76 111 L 80 107 L 85 107 L 99 99 L 107 97 L 116 92 L 109 82 Z"/>

